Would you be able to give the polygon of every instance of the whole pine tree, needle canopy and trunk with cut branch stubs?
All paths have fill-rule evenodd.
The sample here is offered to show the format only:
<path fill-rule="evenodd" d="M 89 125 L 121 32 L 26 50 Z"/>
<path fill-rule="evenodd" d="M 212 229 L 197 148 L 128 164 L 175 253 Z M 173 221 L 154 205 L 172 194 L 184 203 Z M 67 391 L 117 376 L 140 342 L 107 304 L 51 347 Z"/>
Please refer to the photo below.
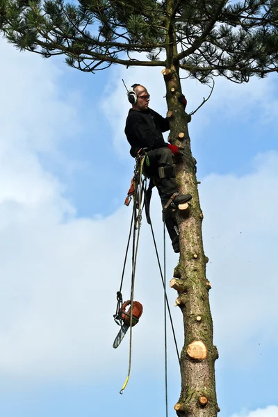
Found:
<path fill-rule="evenodd" d="M 20 50 L 65 55 L 71 67 L 94 73 L 112 64 L 162 67 L 169 141 L 184 148 L 177 181 L 193 199 L 177 214 L 181 254 L 172 288 L 183 313 L 179 416 L 218 414 L 213 324 L 208 302 L 196 161 L 178 101 L 181 72 L 209 83 L 217 76 L 243 83 L 278 72 L 278 0 L 0 0 L 0 30 Z M 142 60 L 132 58 L 140 52 Z M 162 56 L 163 58 L 160 58 Z"/>

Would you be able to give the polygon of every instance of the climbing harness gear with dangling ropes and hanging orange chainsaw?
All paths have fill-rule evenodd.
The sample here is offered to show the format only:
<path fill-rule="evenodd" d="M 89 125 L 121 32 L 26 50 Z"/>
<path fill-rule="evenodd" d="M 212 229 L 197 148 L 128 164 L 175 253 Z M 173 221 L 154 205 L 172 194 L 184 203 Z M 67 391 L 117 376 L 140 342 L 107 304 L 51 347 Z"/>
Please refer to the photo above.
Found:
<path fill-rule="evenodd" d="M 143 175 L 143 164 L 144 162 L 147 163 L 147 155 L 141 154 L 136 158 L 136 166 L 134 168 L 134 175 L 131 179 L 131 187 L 129 188 L 129 191 L 127 193 L 127 197 L 125 199 L 124 204 L 126 206 L 129 206 L 131 199 L 133 198 L 133 213 L 131 217 L 131 226 L 129 229 L 129 238 L 128 243 L 126 246 L 126 254 L 124 257 L 124 266 L 122 270 L 122 279 L 120 283 L 120 291 L 117 291 L 117 307 L 116 312 L 114 315 L 114 320 L 117 323 L 117 325 L 120 325 L 121 329 L 120 332 L 117 334 L 117 337 L 115 338 L 115 341 L 113 343 L 113 347 L 118 347 L 124 338 L 124 335 L 130 328 L 130 337 L 129 337 L 129 369 L 127 373 L 126 380 L 124 382 L 124 385 L 122 386 L 122 389 L 120 393 L 122 394 L 124 392 L 124 389 L 126 388 L 126 384 L 129 382 L 129 376 L 131 373 L 131 347 L 132 347 L 132 327 L 137 324 L 140 316 L 142 315 L 142 304 L 140 304 L 137 301 L 133 301 L 133 293 L 134 293 L 134 281 L 135 281 L 135 272 L 136 272 L 136 259 L 137 259 L 137 252 L 138 252 L 138 242 L 139 242 L 139 236 L 140 236 L 140 226 L 142 222 L 142 209 L 145 204 L 145 210 L 146 210 L 146 218 L 148 224 L 150 224 L 151 231 L 152 231 L 152 238 L 154 240 L 154 247 L 156 251 L 156 258 L 158 261 L 158 268 L 160 270 L 161 274 L 161 280 L 164 288 L 164 334 L 165 334 L 165 404 L 166 404 L 166 417 L 167 417 L 167 312 L 170 318 L 170 324 L 172 327 L 172 334 L 174 337 L 174 344 L 177 350 L 177 357 L 179 359 L 179 350 L 177 347 L 177 339 L 174 333 L 174 325 L 172 322 L 172 316 L 170 313 L 170 306 L 169 302 L 167 300 L 167 294 L 166 294 L 166 286 L 165 286 L 165 277 L 166 277 L 166 254 L 165 254 L 165 220 L 163 219 L 164 224 L 164 231 L 163 231 L 163 240 L 164 240 L 164 272 L 161 269 L 161 262 L 158 256 L 158 250 L 156 246 L 156 240 L 154 237 L 154 230 L 152 227 L 152 220 L 149 215 L 149 202 L 152 195 L 152 188 L 154 187 L 154 183 L 152 179 L 150 179 L 149 188 L 147 188 L 146 183 L 147 179 L 144 176 L 144 179 L 142 179 Z M 144 203 L 142 204 L 142 202 Z M 170 202 L 172 202 L 172 199 L 170 199 Z M 169 204 L 170 204 L 169 202 Z M 131 273 L 131 296 L 130 300 L 123 302 L 122 299 L 122 284 L 124 279 L 124 270 L 126 268 L 126 259 L 129 252 L 129 245 L 131 241 L 131 234 L 133 231 L 133 242 L 132 242 L 132 273 Z M 129 306 L 129 310 L 126 312 L 126 307 Z M 131 325 L 132 323 L 132 325 Z"/>

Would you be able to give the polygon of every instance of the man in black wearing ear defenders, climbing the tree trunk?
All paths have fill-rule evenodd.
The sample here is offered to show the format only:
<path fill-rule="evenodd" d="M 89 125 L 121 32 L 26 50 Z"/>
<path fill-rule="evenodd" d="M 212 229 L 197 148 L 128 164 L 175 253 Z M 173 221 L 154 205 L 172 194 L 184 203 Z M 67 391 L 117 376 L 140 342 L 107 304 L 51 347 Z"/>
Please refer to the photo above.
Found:
<path fill-rule="evenodd" d="M 179 148 L 164 141 L 162 132 L 170 129 L 169 122 L 149 108 L 150 96 L 147 88 L 140 84 L 133 84 L 131 88 L 127 95 L 132 108 L 126 118 L 124 133 L 131 145 L 130 153 L 133 158 L 146 154 L 144 172 L 158 188 L 163 206 L 163 219 L 174 252 L 179 252 L 179 231 L 172 208 L 177 208 L 178 204 L 188 202 L 192 198 L 190 194 L 178 194 L 174 176 L 174 154 L 179 154 Z"/>

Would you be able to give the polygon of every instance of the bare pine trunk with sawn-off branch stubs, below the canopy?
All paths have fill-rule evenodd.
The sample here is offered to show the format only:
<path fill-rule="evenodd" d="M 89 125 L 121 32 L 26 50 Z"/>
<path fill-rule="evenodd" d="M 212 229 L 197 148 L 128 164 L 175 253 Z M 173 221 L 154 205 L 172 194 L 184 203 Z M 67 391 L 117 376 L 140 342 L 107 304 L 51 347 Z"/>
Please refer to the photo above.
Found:
<path fill-rule="evenodd" d="M 169 62 L 169 61 L 168 61 Z M 163 70 L 166 99 L 170 115 L 169 142 L 183 147 L 185 156 L 176 165 L 179 193 L 190 193 L 189 209 L 177 210 L 181 253 L 170 286 L 176 288 L 176 304 L 183 313 L 185 341 L 181 351 L 181 395 L 174 406 L 180 417 L 215 417 L 218 404 L 215 393 L 215 359 L 218 350 L 213 345 L 213 322 L 208 301 L 211 288 L 206 280 L 206 263 L 202 241 L 203 213 L 197 190 L 196 161 L 190 149 L 187 124 L 190 116 L 184 112 L 177 97 L 181 93 L 179 66 Z"/>

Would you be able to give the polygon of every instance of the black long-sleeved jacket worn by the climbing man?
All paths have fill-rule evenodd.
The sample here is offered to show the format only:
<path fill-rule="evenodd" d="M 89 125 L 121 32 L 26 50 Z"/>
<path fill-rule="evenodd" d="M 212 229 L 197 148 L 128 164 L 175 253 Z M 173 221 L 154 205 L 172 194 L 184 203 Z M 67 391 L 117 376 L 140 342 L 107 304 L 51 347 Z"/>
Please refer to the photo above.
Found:
<path fill-rule="evenodd" d="M 170 129 L 166 118 L 158 115 L 152 108 L 146 111 L 137 111 L 132 108 L 126 118 L 124 133 L 131 145 L 131 156 L 135 158 L 138 150 L 142 147 L 157 149 L 167 147 L 162 132 Z"/>

